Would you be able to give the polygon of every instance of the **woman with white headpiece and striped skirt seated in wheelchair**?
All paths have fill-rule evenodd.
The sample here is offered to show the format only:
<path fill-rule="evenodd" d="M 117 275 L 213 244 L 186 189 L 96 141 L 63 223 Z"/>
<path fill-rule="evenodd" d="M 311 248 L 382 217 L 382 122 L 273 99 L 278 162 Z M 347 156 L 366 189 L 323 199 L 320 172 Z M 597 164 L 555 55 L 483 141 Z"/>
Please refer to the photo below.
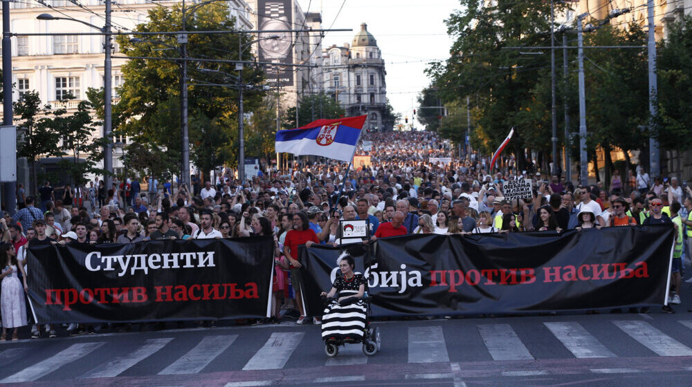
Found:
<path fill-rule="evenodd" d="M 367 305 L 363 302 L 367 280 L 363 274 L 353 272 L 354 259 L 347 253 L 339 259 L 341 276 L 336 277 L 329 293 L 321 296 L 331 301 L 322 316 L 322 339 L 335 343 L 358 343 L 366 328 Z"/>

